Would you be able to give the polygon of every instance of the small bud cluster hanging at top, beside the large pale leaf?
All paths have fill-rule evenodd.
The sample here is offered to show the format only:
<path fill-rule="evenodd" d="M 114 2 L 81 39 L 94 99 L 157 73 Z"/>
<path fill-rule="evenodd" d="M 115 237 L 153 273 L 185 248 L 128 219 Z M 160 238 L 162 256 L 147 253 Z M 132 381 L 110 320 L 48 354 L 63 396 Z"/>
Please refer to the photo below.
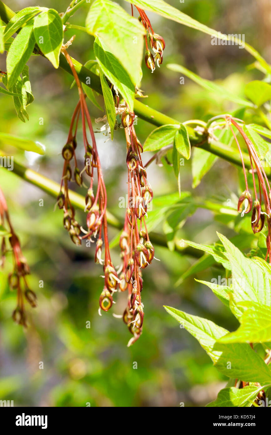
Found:
<path fill-rule="evenodd" d="M 133 15 L 134 14 L 133 5 L 131 6 L 132 6 L 132 15 Z M 137 6 L 136 8 L 140 15 L 139 19 L 141 20 L 142 24 L 144 25 L 147 31 L 145 35 L 145 43 L 146 43 L 145 64 L 147 65 L 149 70 L 151 70 L 151 72 L 153 73 L 155 70 L 155 62 L 157 64 L 157 67 L 159 68 L 160 65 L 163 63 L 163 52 L 166 44 L 164 38 L 162 38 L 157 33 L 154 33 L 154 30 L 151 27 L 150 20 L 148 19 L 145 11 Z M 151 50 L 148 46 L 148 42 L 154 54 L 151 53 Z"/>

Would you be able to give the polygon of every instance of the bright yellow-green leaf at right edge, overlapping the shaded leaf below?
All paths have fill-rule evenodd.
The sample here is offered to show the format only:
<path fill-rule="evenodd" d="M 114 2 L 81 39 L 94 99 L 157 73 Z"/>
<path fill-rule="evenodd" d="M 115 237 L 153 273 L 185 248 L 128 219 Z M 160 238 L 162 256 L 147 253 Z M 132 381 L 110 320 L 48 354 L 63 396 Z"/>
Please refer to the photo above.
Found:
<path fill-rule="evenodd" d="M 237 331 L 224 335 L 220 343 L 264 343 L 271 341 L 271 308 L 255 302 L 240 302 L 237 308 L 247 308 Z"/>

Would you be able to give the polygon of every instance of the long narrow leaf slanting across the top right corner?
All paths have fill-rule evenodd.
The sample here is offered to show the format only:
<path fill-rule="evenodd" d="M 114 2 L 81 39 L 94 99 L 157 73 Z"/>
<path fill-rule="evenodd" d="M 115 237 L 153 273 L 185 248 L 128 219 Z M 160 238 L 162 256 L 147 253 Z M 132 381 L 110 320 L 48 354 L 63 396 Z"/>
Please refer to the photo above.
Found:
<path fill-rule="evenodd" d="M 126 1 L 130 3 L 130 0 L 126 0 Z M 169 20 L 177 21 L 177 23 L 184 24 L 184 26 L 188 26 L 188 27 L 192 27 L 193 29 L 200 30 L 201 32 L 211 35 L 211 37 L 217 37 L 218 39 L 229 40 L 231 41 L 232 44 L 238 43 L 239 45 L 241 45 L 241 47 L 244 47 L 245 50 L 248 51 L 248 53 L 254 56 L 255 59 L 258 60 L 258 62 L 261 64 L 264 70 L 271 73 L 270 65 L 264 60 L 263 57 L 261 57 L 261 55 L 258 53 L 257 50 L 251 47 L 251 45 L 244 43 L 243 40 L 239 40 L 234 36 L 225 35 L 223 33 L 217 32 L 214 29 L 211 29 L 210 27 L 205 26 L 204 24 L 199 23 L 197 20 L 194 20 L 193 18 L 189 17 L 189 15 L 186 15 L 185 13 L 176 9 L 175 7 L 167 4 L 163 0 L 135 0 L 133 1 L 133 4 L 140 7 L 141 9 L 151 10 L 153 12 L 156 12 L 162 17 L 168 18 Z"/>

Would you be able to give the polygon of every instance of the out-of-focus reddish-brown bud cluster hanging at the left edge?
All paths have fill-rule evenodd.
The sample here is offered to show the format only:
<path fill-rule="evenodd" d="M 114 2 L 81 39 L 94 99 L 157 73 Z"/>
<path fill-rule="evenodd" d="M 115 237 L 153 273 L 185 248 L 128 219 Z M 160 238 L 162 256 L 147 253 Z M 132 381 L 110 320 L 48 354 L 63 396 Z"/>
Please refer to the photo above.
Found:
<path fill-rule="evenodd" d="M 10 290 L 17 291 L 17 307 L 13 311 L 12 318 L 18 324 L 26 327 L 27 316 L 24 309 L 23 297 L 26 299 L 27 302 L 29 302 L 31 307 L 34 308 L 37 306 L 37 296 L 32 290 L 30 290 L 30 288 L 27 285 L 26 275 L 30 273 L 29 266 L 27 264 L 26 258 L 22 254 L 20 241 L 13 230 L 8 209 L 7 209 L 7 202 L 1 189 L 0 189 L 0 224 L 1 226 L 3 226 L 3 228 L 5 225 L 7 225 L 8 227 L 7 232 L 4 233 L 5 235 L 3 236 L 2 243 L 1 243 L 2 267 L 4 266 L 5 257 L 8 251 L 6 238 L 8 238 L 9 240 L 9 244 L 13 256 L 13 271 L 10 272 L 8 276 L 8 281 L 9 281 Z"/>

